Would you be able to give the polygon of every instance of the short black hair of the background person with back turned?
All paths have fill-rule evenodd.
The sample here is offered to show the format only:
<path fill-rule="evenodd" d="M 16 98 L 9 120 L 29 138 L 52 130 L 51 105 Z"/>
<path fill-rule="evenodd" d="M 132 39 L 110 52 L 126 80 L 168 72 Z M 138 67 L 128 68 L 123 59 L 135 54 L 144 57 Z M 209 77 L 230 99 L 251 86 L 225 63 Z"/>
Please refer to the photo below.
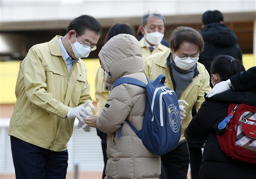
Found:
<path fill-rule="evenodd" d="M 202 23 L 204 25 L 211 24 L 214 22 L 222 22 L 223 14 L 218 10 L 208 10 L 202 15 Z"/>

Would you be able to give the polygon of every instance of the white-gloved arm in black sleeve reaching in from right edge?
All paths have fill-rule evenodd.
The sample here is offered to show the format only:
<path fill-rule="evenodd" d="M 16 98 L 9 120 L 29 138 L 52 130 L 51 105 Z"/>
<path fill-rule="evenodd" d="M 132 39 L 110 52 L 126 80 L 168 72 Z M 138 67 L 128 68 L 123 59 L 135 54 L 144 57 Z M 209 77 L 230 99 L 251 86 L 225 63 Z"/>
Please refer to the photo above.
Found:
<path fill-rule="evenodd" d="M 220 82 L 212 88 L 206 97 L 212 97 L 226 90 L 248 91 L 256 89 L 256 66 L 243 70 L 230 77 L 227 81 Z"/>

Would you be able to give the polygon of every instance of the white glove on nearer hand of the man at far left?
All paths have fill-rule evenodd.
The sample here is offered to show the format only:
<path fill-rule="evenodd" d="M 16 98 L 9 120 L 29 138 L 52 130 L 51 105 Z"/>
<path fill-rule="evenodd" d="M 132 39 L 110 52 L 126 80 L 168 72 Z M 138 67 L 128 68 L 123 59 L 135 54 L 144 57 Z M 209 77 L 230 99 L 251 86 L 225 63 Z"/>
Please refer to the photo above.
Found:
<path fill-rule="evenodd" d="M 90 115 L 92 115 L 92 113 L 86 108 L 88 103 L 90 103 L 90 101 L 86 101 L 86 103 L 79 105 L 78 107 L 71 108 L 68 111 L 67 117 L 70 119 L 76 117 L 84 123 L 84 118 L 88 118 Z"/>

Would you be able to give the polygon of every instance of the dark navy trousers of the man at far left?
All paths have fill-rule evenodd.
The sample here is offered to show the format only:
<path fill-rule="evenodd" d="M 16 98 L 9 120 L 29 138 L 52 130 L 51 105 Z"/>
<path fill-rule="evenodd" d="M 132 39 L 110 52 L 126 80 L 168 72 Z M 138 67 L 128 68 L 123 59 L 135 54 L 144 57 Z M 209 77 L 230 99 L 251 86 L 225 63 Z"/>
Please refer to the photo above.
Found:
<path fill-rule="evenodd" d="M 68 150 L 51 151 L 10 136 L 16 179 L 65 179 Z"/>

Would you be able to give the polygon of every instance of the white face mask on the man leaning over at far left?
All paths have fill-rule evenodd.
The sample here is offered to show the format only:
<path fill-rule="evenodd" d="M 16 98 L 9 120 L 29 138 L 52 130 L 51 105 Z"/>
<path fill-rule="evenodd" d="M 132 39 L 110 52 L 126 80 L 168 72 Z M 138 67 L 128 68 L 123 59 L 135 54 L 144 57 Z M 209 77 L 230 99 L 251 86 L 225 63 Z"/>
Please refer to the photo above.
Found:
<path fill-rule="evenodd" d="M 75 34 L 75 37 L 76 37 L 76 34 Z M 70 42 L 70 40 L 69 40 L 69 42 Z M 70 42 L 70 44 L 71 44 L 71 42 Z M 86 58 L 89 56 L 89 54 L 91 52 L 90 46 L 80 44 L 79 42 L 77 42 L 77 40 L 74 44 L 71 44 L 71 48 L 72 48 L 76 58 Z"/>

